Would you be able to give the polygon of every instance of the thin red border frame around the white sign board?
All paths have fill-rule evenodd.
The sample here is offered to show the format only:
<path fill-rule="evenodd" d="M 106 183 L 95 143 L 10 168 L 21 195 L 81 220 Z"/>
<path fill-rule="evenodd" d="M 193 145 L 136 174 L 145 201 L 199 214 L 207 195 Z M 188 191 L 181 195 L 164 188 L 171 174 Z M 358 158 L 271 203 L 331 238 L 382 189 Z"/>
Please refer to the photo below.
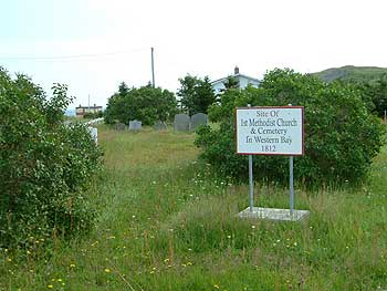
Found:
<path fill-rule="evenodd" d="M 238 152 L 238 119 L 237 119 L 237 112 L 249 110 L 249 111 L 257 111 L 257 110 L 301 110 L 301 153 L 240 153 Z M 263 155 L 263 156 L 303 156 L 305 154 L 305 127 L 304 127 L 304 106 L 254 106 L 254 107 L 236 107 L 234 108 L 234 141 L 236 141 L 236 153 L 237 155 Z"/>

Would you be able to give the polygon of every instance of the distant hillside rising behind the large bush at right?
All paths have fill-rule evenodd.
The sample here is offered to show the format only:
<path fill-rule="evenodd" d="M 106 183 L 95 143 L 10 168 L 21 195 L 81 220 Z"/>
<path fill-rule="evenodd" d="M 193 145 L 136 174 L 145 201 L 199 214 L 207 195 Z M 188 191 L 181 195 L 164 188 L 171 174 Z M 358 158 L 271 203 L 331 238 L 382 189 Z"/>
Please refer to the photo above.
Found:
<path fill-rule="evenodd" d="M 313 73 L 313 75 L 320 77 L 324 82 L 332 82 L 337 79 L 343 81 L 354 80 L 375 82 L 383 74 L 387 74 L 387 67 L 354 65 L 333 67 L 317 73 Z"/>

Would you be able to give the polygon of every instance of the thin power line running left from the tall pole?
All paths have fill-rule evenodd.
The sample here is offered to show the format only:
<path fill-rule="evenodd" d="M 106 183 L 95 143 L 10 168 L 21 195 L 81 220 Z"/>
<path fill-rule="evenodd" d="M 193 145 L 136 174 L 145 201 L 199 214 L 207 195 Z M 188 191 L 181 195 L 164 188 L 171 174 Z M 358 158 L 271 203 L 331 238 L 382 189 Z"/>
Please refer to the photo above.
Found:
<path fill-rule="evenodd" d="M 133 52 L 139 52 L 148 50 L 147 48 L 123 50 L 116 52 L 105 52 L 105 53 L 90 53 L 90 54 L 72 54 L 72 55 L 50 55 L 50 56 L 31 56 L 31 55 L 11 55 L 11 56 L 1 56 L 0 60 L 3 61 L 76 61 L 82 59 L 93 59 L 101 56 L 112 56 L 117 54 L 127 54 Z"/>

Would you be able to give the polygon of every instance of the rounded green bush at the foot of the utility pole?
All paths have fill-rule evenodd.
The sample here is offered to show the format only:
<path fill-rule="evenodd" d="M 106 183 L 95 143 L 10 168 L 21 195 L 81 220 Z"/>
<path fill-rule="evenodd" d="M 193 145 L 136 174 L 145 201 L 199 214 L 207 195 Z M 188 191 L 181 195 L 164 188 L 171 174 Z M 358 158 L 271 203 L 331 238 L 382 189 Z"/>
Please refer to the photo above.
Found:
<path fill-rule="evenodd" d="M 151 85 L 129 89 L 124 82 L 118 92 L 109 97 L 105 111 L 105 122 L 128 124 L 138 119 L 144 125 L 153 125 L 156 121 L 170 119 L 177 108 L 174 93 Z"/>

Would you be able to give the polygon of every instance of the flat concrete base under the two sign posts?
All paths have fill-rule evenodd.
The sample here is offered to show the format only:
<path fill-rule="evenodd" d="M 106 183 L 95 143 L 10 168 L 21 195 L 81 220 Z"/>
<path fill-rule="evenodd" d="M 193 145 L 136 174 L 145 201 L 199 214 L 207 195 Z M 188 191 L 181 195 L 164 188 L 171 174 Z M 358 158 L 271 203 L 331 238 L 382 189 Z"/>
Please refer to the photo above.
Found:
<path fill-rule="evenodd" d="M 281 221 L 302 221 L 305 218 L 307 218 L 308 215 L 308 210 L 293 210 L 293 215 L 291 215 L 289 209 L 262 207 L 253 207 L 252 212 L 250 212 L 250 207 L 248 207 L 238 214 L 240 218 L 269 219 Z"/>

